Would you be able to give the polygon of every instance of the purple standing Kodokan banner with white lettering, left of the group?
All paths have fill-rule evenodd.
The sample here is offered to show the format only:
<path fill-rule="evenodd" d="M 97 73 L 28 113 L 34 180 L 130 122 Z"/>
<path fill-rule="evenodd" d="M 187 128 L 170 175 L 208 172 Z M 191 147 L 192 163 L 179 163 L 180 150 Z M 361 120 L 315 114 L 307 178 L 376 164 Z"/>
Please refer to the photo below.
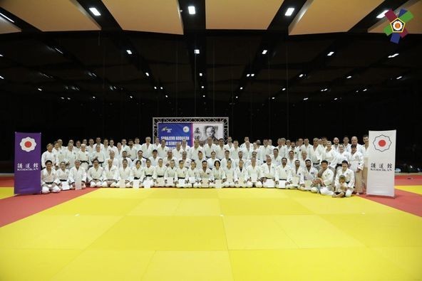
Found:
<path fill-rule="evenodd" d="M 41 133 L 15 132 L 15 194 L 41 192 Z"/>

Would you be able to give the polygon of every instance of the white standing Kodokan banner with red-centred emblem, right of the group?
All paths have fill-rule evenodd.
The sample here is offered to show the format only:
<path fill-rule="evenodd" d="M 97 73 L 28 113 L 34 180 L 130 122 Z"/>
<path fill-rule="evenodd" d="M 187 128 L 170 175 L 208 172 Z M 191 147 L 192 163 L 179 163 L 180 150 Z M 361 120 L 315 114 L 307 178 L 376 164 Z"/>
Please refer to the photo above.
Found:
<path fill-rule="evenodd" d="M 394 197 L 396 130 L 369 131 L 368 186 L 366 193 Z"/>

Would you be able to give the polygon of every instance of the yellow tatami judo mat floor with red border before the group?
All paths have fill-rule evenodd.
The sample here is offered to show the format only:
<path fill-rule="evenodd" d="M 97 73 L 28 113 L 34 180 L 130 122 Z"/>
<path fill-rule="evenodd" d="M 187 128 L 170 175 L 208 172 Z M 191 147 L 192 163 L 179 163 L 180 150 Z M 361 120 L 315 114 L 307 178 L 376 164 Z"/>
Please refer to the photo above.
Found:
<path fill-rule="evenodd" d="M 86 189 L 0 217 L 24 197 L 45 206 L 1 226 L 0 280 L 422 280 L 422 217 L 363 196 Z"/>

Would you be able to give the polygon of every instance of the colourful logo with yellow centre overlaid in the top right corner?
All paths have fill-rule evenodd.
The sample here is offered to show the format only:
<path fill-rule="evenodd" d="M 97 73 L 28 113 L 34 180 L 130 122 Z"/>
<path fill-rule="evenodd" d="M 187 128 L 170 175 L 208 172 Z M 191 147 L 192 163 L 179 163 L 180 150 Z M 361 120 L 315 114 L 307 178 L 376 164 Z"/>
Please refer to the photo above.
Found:
<path fill-rule="evenodd" d="M 398 12 L 398 16 L 394 14 L 393 10 L 387 11 L 384 16 L 390 21 L 388 26 L 384 28 L 384 33 L 386 33 L 387 36 L 392 34 L 390 41 L 398 44 L 400 38 L 403 38 L 408 34 L 405 26 L 406 23 L 413 18 L 413 14 L 410 11 L 401 9 L 400 12 Z"/>

